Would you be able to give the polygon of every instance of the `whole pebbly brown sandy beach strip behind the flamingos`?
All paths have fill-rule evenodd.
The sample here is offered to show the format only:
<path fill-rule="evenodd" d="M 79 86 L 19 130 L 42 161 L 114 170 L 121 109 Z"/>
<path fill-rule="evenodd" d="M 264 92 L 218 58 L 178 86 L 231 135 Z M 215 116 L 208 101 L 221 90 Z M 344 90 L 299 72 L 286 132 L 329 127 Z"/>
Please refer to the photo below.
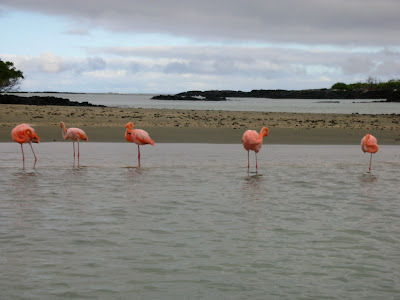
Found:
<path fill-rule="evenodd" d="M 304 114 L 114 107 L 0 105 L 0 142 L 20 123 L 35 126 L 42 142 L 62 141 L 59 122 L 79 127 L 91 142 L 124 142 L 125 124 L 156 143 L 240 143 L 247 129 L 267 126 L 264 143 L 359 144 L 370 133 L 379 144 L 400 144 L 400 115 Z"/>

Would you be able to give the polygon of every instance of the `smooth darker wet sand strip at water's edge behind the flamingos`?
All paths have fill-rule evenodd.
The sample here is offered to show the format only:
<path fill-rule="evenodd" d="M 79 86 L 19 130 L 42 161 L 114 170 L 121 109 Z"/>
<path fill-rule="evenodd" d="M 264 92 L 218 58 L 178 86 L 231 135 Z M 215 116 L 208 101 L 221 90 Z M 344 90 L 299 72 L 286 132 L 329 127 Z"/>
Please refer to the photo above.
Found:
<path fill-rule="evenodd" d="M 35 126 L 41 143 L 63 142 L 61 129 L 55 126 Z M 0 143 L 13 142 L 12 128 L 0 128 Z M 125 128 L 86 127 L 83 128 L 89 142 L 125 143 Z M 244 131 L 229 128 L 143 128 L 149 132 L 155 143 L 203 143 L 240 144 Z M 259 130 L 258 130 L 259 131 Z M 380 145 L 400 145 L 400 138 L 394 139 L 390 133 L 351 129 L 294 129 L 270 128 L 264 144 L 283 145 L 359 145 L 362 137 L 370 133 Z M 400 135 L 398 135 L 400 136 Z"/>

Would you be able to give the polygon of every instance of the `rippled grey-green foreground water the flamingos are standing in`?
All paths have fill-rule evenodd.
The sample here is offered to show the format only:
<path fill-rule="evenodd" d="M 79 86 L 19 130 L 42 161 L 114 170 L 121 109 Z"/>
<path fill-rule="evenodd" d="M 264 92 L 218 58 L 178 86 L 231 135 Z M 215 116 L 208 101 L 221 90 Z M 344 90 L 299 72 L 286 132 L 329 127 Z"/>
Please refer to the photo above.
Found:
<path fill-rule="evenodd" d="M 0 298 L 398 299 L 400 147 L 0 144 Z M 254 156 L 251 156 L 252 171 Z"/>

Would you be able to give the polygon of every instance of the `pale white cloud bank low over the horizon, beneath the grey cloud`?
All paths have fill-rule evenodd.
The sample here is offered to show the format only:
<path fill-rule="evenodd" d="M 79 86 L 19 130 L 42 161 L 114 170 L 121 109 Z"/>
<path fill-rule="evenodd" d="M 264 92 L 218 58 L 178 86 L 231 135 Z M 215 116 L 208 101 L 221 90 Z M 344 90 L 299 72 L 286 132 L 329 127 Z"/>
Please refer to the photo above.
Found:
<path fill-rule="evenodd" d="M 388 49 L 368 53 L 268 47 L 118 47 L 91 49 L 86 58 L 52 53 L 5 58 L 24 72 L 22 90 L 165 93 L 328 88 L 338 81 L 365 80 L 369 75 L 386 80 L 400 74 L 400 55 Z M 43 80 L 48 73 L 51 76 Z"/>

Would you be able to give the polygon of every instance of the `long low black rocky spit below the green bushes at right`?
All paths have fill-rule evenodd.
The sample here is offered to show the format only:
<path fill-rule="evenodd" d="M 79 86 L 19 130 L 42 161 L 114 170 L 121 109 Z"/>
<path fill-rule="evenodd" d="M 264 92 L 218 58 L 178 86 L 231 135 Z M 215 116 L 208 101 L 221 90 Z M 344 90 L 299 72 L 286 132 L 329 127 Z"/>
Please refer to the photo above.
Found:
<path fill-rule="evenodd" d="M 311 90 L 232 90 L 187 91 L 175 95 L 158 95 L 153 100 L 226 101 L 227 98 L 271 99 L 380 99 L 400 102 L 397 89 L 311 89 Z"/>

